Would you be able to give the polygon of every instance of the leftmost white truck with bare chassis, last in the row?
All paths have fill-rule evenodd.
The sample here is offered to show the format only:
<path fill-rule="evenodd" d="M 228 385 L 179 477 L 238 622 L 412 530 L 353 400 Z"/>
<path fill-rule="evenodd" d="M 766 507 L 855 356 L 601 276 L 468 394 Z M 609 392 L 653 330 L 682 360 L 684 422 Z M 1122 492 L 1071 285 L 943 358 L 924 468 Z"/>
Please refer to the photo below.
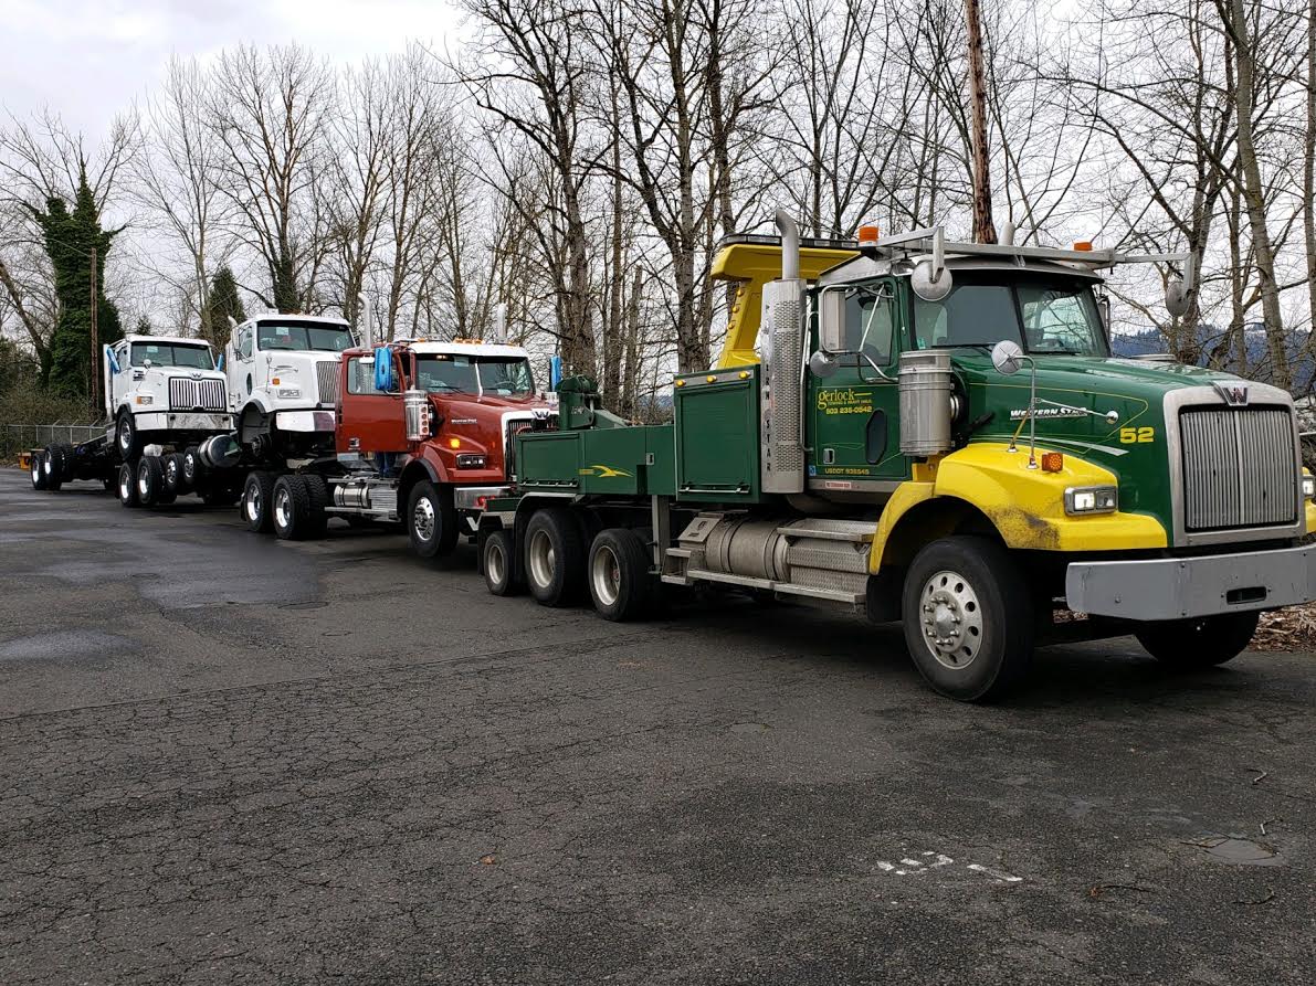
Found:
<path fill-rule="evenodd" d="M 105 433 L 78 444 L 51 444 L 32 456 L 34 489 L 76 480 L 114 489 L 124 506 L 166 504 L 193 490 L 208 504 L 232 504 L 224 482 L 184 479 L 187 456 L 232 427 L 228 393 L 203 339 L 126 335 L 101 348 Z"/>

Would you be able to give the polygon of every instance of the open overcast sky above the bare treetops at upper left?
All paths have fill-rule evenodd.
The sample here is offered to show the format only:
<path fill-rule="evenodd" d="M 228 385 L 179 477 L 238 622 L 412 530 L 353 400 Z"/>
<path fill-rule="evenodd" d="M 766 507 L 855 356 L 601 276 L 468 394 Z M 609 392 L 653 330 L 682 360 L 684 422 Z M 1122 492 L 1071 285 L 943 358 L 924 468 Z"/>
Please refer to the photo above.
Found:
<path fill-rule="evenodd" d="M 4 109 L 50 105 L 91 141 L 155 87 L 172 53 L 296 41 L 351 62 L 412 38 L 442 47 L 458 25 L 443 0 L 3 0 L 0 11 Z"/>

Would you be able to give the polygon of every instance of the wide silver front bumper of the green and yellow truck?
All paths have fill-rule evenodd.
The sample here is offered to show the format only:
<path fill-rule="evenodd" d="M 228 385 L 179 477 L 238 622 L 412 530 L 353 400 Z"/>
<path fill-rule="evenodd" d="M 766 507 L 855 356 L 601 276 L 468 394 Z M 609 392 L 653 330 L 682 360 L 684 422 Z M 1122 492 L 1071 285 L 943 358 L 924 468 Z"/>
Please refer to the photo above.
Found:
<path fill-rule="evenodd" d="M 1183 619 L 1273 610 L 1316 599 L 1316 544 L 1236 555 L 1075 561 L 1065 572 L 1075 613 Z"/>

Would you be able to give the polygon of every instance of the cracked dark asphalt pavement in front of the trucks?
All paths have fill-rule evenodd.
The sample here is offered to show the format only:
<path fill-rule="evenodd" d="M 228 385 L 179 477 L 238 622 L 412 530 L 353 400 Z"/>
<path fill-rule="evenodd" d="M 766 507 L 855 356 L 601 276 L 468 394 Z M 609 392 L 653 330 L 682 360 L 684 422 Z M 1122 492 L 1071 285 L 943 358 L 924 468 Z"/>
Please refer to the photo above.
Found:
<path fill-rule="evenodd" d="M 612 624 L 0 471 L 0 983 L 1309 983 L 1316 657 Z"/>

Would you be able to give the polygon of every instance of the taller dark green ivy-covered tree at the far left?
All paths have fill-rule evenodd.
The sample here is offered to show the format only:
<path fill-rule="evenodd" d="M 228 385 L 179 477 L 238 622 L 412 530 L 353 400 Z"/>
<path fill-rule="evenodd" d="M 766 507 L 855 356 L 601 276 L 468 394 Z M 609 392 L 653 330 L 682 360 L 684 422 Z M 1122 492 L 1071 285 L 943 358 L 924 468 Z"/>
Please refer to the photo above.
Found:
<path fill-rule="evenodd" d="M 50 367 L 43 381 L 64 397 L 88 397 L 91 375 L 99 372 L 100 355 L 91 355 L 91 256 L 96 252 L 96 327 L 101 343 L 124 338 L 118 309 L 105 298 L 105 255 L 116 231 L 100 227 L 100 210 L 87 172 L 78 176 L 78 193 L 70 212 L 63 199 L 46 200 L 46 210 L 33 209 L 41 226 L 46 254 L 55 270 L 59 321 L 50 340 Z"/>

